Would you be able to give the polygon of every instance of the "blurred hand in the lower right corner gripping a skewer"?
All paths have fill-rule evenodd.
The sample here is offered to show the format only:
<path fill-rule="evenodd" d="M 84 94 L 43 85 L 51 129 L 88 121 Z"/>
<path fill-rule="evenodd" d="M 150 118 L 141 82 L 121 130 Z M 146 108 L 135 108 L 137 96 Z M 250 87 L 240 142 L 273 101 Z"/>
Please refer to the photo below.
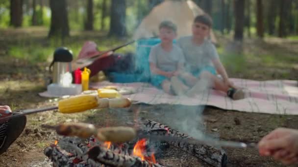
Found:
<path fill-rule="evenodd" d="M 277 128 L 259 142 L 259 153 L 285 165 L 298 163 L 298 130 Z"/>

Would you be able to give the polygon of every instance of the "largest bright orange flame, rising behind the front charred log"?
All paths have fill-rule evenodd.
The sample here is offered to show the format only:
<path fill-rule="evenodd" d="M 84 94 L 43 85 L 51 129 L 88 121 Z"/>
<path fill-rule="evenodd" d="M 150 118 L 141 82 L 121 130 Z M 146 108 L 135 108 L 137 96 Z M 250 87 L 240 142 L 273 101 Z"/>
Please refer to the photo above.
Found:
<path fill-rule="evenodd" d="M 146 160 L 146 161 L 149 161 L 150 163 L 156 164 L 154 153 L 151 154 L 151 157 L 146 157 L 144 155 L 145 151 L 146 151 L 146 139 L 141 139 L 133 147 L 133 155 L 140 157 L 142 161 Z"/>

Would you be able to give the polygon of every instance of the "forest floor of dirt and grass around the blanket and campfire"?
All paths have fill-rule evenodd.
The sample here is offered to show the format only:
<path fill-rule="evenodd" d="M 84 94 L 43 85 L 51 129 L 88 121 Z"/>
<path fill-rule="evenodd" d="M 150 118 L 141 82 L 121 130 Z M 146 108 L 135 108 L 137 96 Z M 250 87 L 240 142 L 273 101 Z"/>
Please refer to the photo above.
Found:
<path fill-rule="evenodd" d="M 0 30 L 0 105 L 8 104 L 13 110 L 19 110 L 57 104 L 55 99 L 38 95 L 39 92 L 46 90 L 44 78 L 49 73 L 46 67 L 52 59 L 51 54 L 55 47 L 61 45 L 46 37 L 47 29 L 39 27 Z M 230 39 L 218 35 L 220 44 L 218 50 L 230 77 L 253 80 L 298 79 L 297 40 L 247 39 L 243 44 L 243 54 L 235 54 L 227 51 L 235 46 L 231 45 Z M 100 32 L 72 32 L 72 37 L 66 39 L 64 45 L 73 49 L 77 55 L 86 40 L 95 41 L 101 50 L 127 42 L 127 39 L 119 42 L 115 39 L 110 40 Z M 133 50 L 133 46 L 127 50 Z M 100 112 L 92 110 L 70 115 L 49 111 L 28 115 L 24 132 L 7 152 L 0 155 L 0 166 L 49 167 L 50 162 L 43 150 L 55 141 L 57 135 L 52 130 L 41 128 L 42 124 L 86 122 L 98 127 L 130 125 L 138 116 L 175 127 L 173 123 L 179 121 L 181 115 L 178 112 L 173 114 L 173 108 L 181 111 L 190 106 L 138 104 L 120 110 L 105 109 Z M 199 106 L 192 107 L 192 110 L 203 119 L 206 132 L 224 140 L 258 142 L 276 127 L 298 128 L 298 116 L 227 111 L 209 106 L 203 110 Z M 215 128 L 216 132 L 211 130 Z M 179 130 L 179 127 L 176 129 Z M 272 158 L 259 156 L 256 149 L 225 150 L 228 167 L 282 166 Z M 172 167 L 209 167 L 190 154 L 174 149 L 165 153 L 160 159 L 157 158 L 157 161 Z"/>

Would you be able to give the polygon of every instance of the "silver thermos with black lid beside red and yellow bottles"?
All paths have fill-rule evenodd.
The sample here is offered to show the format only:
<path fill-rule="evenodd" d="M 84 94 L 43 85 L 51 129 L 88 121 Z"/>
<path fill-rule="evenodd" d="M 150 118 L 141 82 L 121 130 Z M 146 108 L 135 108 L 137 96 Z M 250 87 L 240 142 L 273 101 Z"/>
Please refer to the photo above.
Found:
<path fill-rule="evenodd" d="M 53 61 L 50 63 L 50 72 L 52 72 L 52 83 L 58 84 L 62 80 L 63 74 L 72 71 L 73 53 L 66 47 L 59 47 L 54 51 L 53 56 Z M 53 67 L 53 70 L 51 70 L 51 67 Z"/>

